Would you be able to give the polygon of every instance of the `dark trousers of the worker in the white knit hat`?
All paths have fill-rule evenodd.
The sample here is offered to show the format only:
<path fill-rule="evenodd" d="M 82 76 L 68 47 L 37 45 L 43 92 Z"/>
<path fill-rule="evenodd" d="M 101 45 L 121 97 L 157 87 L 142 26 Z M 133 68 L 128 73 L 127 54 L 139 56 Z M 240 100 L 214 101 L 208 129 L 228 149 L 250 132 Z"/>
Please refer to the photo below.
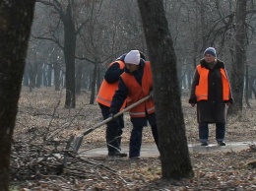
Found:
<path fill-rule="evenodd" d="M 129 158 L 140 157 L 141 145 L 142 145 L 142 132 L 143 127 L 147 126 L 147 121 L 149 121 L 152 129 L 152 134 L 157 146 L 159 146 L 159 134 L 158 127 L 156 123 L 156 115 L 147 114 L 146 117 L 141 118 L 131 118 L 133 129 L 130 137 L 130 148 L 129 148 Z"/>

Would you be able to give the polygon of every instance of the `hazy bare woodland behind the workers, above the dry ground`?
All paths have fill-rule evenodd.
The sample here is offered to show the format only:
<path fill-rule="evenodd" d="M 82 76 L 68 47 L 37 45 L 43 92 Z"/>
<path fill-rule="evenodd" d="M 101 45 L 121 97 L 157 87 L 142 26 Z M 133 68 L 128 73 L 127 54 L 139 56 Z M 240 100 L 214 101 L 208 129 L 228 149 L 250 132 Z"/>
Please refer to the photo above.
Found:
<path fill-rule="evenodd" d="M 51 86 L 59 91 L 65 87 L 67 107 L 75 107 L 75 95 L 90 91 L 90 103 L 94 103 L 110 62 L 131 49 L 145 52 L 149 59 L 137 1 L 37 2 L 40 3 L 35 6 L 23 83 L 31 91 Z M 163 5 L 181 90 L 189 89 L 195 66 L 205 48 L 214 46 L 218 58 L 224 60 L 229 78 L 244 82 L 239 90 L 235 88 L 239 82 L 233 83 L 233 90 L 243 93 L 245 88 L 246 100 L 256 95 L 255 1 L 247 1 L 246 9 L 242 10 L 246 31 L 242 32 L 244 40 L 239 46 L 245 54 L 238 57 L 236 1 L 165 0 Z M 231 75 L 232 68 L 238 71 Z M 244 74 L 244 80 L 239 73 Z M 246 103 L 249 105 L 248 101 Z"/>

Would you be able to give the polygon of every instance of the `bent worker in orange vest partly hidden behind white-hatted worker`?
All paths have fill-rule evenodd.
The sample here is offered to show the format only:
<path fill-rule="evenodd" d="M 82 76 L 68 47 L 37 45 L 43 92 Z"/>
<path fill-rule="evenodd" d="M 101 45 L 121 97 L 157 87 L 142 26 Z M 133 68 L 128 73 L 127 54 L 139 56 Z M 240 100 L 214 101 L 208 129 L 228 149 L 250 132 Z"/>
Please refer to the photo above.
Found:
<path fill-rule="evenodd" d="M 101 109 L 103 119 L 109 117 L 110 102 L 112 100 L 112 96 L 114 95 L 115 90 L 117 89 L 119 76 L 123 73 L 123 69 L 125 66 L 124 58 L 125 54 L 117 58 L 114 62 L 110 63 L 108 69 L 105 72 L 103 82 L 96 96 L 96 102 L 98 102 L 98 105 Z M 120 148 L 123 128 L 123 115 L 119 115 L 116 119 L 106 124 L 105 139 L 108 156 L 127 157 L 127 154 L 122 153 Z"/>

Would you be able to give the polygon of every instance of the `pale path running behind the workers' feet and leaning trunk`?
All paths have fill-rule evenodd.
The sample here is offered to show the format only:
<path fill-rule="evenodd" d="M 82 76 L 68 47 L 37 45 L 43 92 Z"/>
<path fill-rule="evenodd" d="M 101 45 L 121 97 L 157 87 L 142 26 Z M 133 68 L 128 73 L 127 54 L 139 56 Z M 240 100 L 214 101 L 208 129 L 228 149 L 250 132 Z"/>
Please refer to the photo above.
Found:
<path fill-rule="evenodd" d="M 208 152 L 239 152 L 242 150 L 249 149 L 250 145 L 255 144 L 254 142 L 230 142 L 226 143 L 226 146 L 220 147 L 217 144 L 210 144 L 207 147 L 200 146 L 199 144 L 189 144 L 188 148 L 190 152 L 194 153 L 208 153 Z M 128 146 L 123 146 L 122 151 L 128 153 Z M 85 151 L 83 149 L 79 150 L 82 152 L 84 157 L 87 158 L 97 158 L 97 157 L 105 157 L 107 155 L 107 151 L 105 147 L 92 149 L 89 151 Z M 141 149 L 141 158 L 158 158 L 160 153 L 155 144 L 143 144 Z"/>

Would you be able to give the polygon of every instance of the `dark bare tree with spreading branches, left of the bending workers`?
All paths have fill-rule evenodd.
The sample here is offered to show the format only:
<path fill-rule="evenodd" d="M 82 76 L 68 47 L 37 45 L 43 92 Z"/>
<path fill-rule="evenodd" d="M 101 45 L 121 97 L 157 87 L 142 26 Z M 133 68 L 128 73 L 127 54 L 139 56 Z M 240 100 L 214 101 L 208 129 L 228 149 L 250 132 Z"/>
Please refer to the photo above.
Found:
<path fill-rule="evenodd" d="M 76 13 L 75 1 L 68 0 L 66 8 L 58 0 L 47 1 L 47 0 L 37 0 L 44 5 L 51 6 L 60 17 L 61 22 L 64 27 L 64 44 L 62 45 L 58 37 L 44 37 L 36 36 L 40 39 L 48 39 L 57 43 L 63 50 L 66 64 L 66 100 L 65 108 L 75 108 L 76 107 L 76 96 L 75 96 L 75 53 L 76 53 L 76 43 L 77 34 L 82 30 L 88 21 L 83 22 L 79 27 L 76 27 Z M 54 34 L 54 32 L 53 32 Z"/>

